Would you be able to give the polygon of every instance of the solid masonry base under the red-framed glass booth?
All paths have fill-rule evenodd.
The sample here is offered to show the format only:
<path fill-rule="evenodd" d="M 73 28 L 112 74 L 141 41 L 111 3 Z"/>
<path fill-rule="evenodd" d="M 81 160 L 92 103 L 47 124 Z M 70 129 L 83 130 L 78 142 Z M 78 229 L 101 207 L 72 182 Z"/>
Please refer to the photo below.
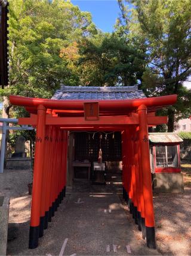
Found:
<path fill-rule="evenodd" d="M 181 173 L 154 173 L 153 192 L 178 193 L 184 192 L 183 174 Z"/>

